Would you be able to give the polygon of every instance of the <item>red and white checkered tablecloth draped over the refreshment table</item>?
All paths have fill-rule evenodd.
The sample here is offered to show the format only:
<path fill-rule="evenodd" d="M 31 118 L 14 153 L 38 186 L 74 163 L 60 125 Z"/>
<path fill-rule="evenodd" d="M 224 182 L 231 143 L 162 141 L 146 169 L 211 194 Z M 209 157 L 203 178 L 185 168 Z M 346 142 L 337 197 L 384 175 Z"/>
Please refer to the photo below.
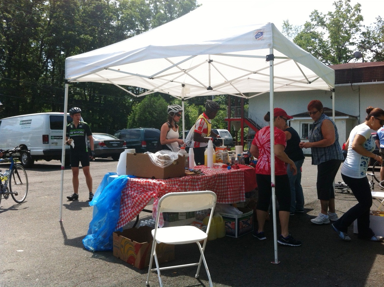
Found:
<path fill-rule="evenodd" d="M 256 187 L 255 171 L 248 166 L 230 170 L 204 166 L 196 168 L 201 169 L 204 175 L 171 179 L 129 178 L 121 192 L 120 216 L 116 229 L 132 221 L 152 198 L 155 199 L 155 209 L 157 199 L 169 192 L 210 190 L 216 193 L 217 203 L 236 203 L 245 201 L 245 182 L 248 189 Z"/>

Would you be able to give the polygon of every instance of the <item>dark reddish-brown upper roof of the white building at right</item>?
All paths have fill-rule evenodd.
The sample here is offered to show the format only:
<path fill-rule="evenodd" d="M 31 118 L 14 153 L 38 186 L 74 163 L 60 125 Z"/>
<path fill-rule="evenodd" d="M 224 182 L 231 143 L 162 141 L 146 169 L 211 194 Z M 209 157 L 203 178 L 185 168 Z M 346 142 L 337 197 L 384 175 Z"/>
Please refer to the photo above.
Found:
<path fill-rule="evenodd" d="M 335 71 L 335 85 L 384 82 L 384 62 L 330 65 Z"/>

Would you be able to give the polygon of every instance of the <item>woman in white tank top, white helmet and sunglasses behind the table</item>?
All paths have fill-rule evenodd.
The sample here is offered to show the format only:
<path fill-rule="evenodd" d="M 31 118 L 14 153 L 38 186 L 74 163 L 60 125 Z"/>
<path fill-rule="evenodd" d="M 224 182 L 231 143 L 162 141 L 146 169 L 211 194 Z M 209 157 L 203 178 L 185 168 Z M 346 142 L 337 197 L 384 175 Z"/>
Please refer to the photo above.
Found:
<path fill-rule="evenodd" d="M 167 146 L 167 149 L 177 153 L 179 145 L 184 144 L 182 139 L 179 139 L 179 126 L 176 124 L 180 121 L 183 108 L 179 105 L 168 106 L 168 121 L 161 126 L 160 143 Z"/>

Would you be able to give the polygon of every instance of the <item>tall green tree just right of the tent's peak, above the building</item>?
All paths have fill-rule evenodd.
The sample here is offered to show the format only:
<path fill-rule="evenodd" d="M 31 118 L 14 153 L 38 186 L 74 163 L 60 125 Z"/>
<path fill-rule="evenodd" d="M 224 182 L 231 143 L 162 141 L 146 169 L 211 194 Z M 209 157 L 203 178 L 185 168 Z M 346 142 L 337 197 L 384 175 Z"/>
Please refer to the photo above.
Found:
<path fill-rule="evenodd" d="M 314 10 L 293 42 L 326 65 L 347 63 L 354 52 L 351 48 L 358 43 L 363 20 L 361 5 L 357 3 L 352 7 L 350 2 L 334 2 L 335 11 L 325 15 Z M 286 35 L 294 34 L 288 20 L 284 25 Z"/>

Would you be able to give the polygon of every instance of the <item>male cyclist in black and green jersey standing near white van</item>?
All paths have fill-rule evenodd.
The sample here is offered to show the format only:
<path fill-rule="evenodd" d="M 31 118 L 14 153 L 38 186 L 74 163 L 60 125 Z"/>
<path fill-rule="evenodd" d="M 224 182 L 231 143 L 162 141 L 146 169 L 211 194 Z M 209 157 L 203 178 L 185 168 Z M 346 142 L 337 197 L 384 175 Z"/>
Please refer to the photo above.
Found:
<path fill-rule="evenodd" d="M 94 158 L 92 132 L 87 123 L 80 121 L 81 109 L 74 107 L 69 110 L 69 113 L 73 122 L 67 126 L 65 140 L 68 145 L 71 145 L 72 141 L 74 144 L 74 146 L 71 145 L 71 169 L 74 193 L 71 196 L 67 196 L 67 198 L 69 200 L 79 198 L 79 163 L 81 162 L 85 181 L 88 186 L 89 200 L 92 200 L 92 177 L 89 172 L 89 160 Z M 91 147 L 90 151 L 88 151 L 87 138 Z"/>

